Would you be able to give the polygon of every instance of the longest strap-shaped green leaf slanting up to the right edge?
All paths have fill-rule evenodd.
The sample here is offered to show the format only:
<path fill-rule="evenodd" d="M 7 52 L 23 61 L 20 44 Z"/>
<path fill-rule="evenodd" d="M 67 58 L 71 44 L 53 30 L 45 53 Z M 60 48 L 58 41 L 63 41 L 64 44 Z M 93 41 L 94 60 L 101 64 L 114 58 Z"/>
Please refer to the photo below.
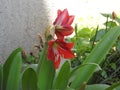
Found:
<path fill-rule="evenodd" d="M 120 26 L 112 28 L 108 31 L 102 40 L 94 47 L 91 54 L 86 58 L 83 64 L 96 63 L 100 64 L 112 45 L 114 44 L 117 37 L 120 35 Z M 70 87 L 81 88 L 82 83 L 87 82 L 92 74 L 94 73 L 96 66 L 87 65 L 79 68 L 79 74 L 76 75 Z"/>

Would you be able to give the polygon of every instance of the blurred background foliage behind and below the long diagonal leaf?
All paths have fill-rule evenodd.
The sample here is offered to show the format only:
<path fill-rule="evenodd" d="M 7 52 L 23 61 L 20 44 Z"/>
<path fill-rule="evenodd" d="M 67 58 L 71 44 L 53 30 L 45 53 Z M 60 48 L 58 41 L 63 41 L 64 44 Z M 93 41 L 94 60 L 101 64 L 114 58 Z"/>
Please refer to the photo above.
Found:
<path fill-rule="evenodd" d="M 82 64 L 85 58 L 90 54 L 94 46 L 99 43 L 102 37 L 113 27 L 119 25 L 119 18 L 114 16 L 112 18 L 111 14 L 102 14 L 106 17 L 106 22 L 103 28 L 79 28 L 76 24 L 75 36 L 71 38 L 71 41 L 75 43 L 74 52 L 77 57 L 71 61 L 72 67 L 77 67 Z M 88 31 L 89 30 L 89 31 Z M 87 31 L 87 32 L 86 32 Z M 83 43 L 87 40 L 87 43 Z M 87 47 L 87 48 L 86 48 Z M 116 39 L 114 45 L 107 53 L 104 61 L 100 64 L 102 70 L 95 72 L 92 79 L 89 80 L 89 84 L 105 83 L 111 85 L 116 81 L 119 81 L 119 37 Z"/>

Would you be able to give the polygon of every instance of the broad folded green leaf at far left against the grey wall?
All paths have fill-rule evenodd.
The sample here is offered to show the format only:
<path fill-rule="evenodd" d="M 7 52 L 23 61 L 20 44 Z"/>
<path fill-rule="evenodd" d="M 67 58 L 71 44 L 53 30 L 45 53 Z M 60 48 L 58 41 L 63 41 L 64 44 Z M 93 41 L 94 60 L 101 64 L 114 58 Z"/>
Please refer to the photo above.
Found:
<path fill-rule="evenodd" d="M 22 65 L 20 51 L 21 48 L 14 50 L 3 65 L 3 90 L 18 90 Z"/>

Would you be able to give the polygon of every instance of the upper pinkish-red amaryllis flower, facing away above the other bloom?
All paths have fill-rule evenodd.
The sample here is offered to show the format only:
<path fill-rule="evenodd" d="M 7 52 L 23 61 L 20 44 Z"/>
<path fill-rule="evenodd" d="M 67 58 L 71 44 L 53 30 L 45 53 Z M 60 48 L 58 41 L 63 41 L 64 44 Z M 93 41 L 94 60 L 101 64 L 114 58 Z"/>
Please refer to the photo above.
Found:
<path fill-rule="evenodd" d="M 74 16 L 70 16 L 67 9 L 64 9 L 63 11 L 58 10 L 58 16 L 53 23 L 55 26 L 55 34 L 58 38 L 64 38 L 64 36 L 73 33 L 73 27 L 71 26 L 73 20 Z"/>

